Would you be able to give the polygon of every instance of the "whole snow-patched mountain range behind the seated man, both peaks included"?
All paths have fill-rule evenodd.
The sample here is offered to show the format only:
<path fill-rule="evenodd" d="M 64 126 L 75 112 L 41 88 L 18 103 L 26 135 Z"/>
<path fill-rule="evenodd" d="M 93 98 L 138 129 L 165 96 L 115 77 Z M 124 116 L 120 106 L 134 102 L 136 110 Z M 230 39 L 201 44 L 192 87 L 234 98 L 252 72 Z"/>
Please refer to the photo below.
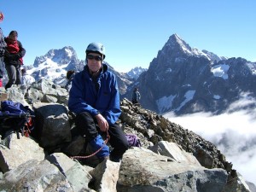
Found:
<path fill-rule="evenodd" d="M 27 67 L 27 73 L 36 80 L 52 79 L 55 84 L 64 85 L 67 70 L 81 71 L 84 65 L 75 50 L 67 46 L 37 57 L 33 66 Z M 232 102 L 256 97 L 256 63 L 191 48 L 177 34 L 168 39 L 148 70 L 136 67 L 130 73 L 118 73 L 109 64 L 108 67 L 117 76 L 121 99 L 131 99 L 136 86 L 143 108 L 156 113 L 222 113 L 241 108 L 230 108 Z M 247 103 L 242 108 L 254 105 Z"/>

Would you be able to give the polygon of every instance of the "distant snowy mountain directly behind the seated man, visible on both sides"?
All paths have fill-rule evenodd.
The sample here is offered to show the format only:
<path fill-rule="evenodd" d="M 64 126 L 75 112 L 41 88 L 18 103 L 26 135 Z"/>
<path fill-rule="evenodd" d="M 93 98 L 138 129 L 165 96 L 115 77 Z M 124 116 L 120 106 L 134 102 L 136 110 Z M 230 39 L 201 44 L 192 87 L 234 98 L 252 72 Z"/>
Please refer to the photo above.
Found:
<path fill-rule="evenodd" d="M 120 94 L 124 94 L 127 86 L 133 82 L 132 79 L 126 73 L 116 72 L 108 62 L 105 63 L 117 77 Z M 36 57 L 32 66 L 26 66 L 26 73 L 31 74 L 37 81 L 50 79 L 55 84 L 64 86 L 67 83 L 67 71 L 82 71 L 84 65 L 85 62 L 78 59 L 73 47 L 66 46 L 62 49 L 50 49 L 46 55 Z"/>

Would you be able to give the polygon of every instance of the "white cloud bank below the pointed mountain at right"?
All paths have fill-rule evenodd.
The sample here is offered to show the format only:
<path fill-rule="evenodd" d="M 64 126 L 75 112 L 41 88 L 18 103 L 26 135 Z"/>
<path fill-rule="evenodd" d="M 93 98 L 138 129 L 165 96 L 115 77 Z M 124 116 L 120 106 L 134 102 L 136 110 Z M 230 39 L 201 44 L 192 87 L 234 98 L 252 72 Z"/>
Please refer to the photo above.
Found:
<path fill-rule="evenodd" d="M 251 112 L 238 111 L 216 116 L 194 113 L 180 117 L 166 113 L 164 116 L 214 143 L 245 180 L 256 184 L 256 118 Z"/>

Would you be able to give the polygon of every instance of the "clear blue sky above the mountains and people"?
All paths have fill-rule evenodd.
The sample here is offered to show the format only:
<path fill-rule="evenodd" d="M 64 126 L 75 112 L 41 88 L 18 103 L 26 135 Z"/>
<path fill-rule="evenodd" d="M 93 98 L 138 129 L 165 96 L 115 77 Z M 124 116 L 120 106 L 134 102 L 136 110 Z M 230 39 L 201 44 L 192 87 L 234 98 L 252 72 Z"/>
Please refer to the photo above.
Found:
<path fill-rule="evenodd" d="M 5 36 L 19 32 L 26 65 L 64 46 L 84 60 L 86 46 L 101 42 L 115 70 L 148 68 L 174 33 L 191 47 L 256 61 L 254 0 L 0 0 L 0 5 L 5 15 L 0 26 Z"/>

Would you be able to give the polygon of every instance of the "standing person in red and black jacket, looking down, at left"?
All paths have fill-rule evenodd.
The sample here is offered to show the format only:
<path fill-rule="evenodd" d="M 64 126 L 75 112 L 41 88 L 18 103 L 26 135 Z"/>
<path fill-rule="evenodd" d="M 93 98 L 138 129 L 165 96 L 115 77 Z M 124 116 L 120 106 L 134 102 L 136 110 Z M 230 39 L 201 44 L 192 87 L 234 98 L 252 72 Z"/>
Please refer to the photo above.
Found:
<path fill-rule="evenodd" d="M 4 38 L 7 48 L 4 53 L 3 61 L 9 78 L 5 89 L 8 89 L 13 84 L 21 84 L 20 66 L 23 65 L 22 57 L 26 54 L 26 49 L 22 47 L 22 44 L 17 38 L 18 32 L 16 31 L 11 31 L 9 37 Z"/>

